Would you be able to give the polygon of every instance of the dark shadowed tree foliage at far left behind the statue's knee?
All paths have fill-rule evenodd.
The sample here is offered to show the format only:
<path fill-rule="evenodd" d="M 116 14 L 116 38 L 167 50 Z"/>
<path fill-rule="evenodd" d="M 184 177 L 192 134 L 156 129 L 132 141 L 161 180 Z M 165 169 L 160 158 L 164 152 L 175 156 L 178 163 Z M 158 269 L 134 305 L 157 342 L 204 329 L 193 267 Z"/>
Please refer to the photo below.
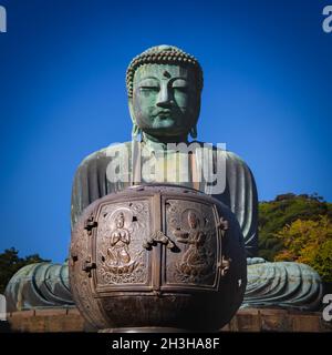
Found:
<path fill-rule="evenodd" d="M 19 257 L 19 251 L 14 247 L 7 248 L 0 254 L 0 293 L 4 292 L 9 280 L 17 271 L 25 265 L 41 262 L 49 262 L 49 260 L 41 258 L 39 254 Z"/>

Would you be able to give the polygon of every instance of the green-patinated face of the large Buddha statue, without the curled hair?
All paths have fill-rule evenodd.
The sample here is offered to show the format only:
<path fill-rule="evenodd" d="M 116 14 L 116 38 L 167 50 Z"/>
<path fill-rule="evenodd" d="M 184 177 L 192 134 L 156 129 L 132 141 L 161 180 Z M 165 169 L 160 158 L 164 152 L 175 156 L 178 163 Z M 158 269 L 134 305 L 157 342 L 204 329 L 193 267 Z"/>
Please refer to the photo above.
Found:
<path fill-rule="evenodd" d="M 143 132 L 157 138 L 187 136 L 200 108 L 194 70 L 176 64 L 139 67 L 129 108 Z"/>

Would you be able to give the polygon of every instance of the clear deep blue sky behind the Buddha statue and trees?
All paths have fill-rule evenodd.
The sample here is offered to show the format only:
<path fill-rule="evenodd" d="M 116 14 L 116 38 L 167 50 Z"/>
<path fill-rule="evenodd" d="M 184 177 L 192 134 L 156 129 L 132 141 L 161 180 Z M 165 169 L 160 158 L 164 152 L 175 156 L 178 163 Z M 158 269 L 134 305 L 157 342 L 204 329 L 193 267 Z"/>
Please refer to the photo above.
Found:
<path fill-rule="evenodd" d="M 242 156 L 260 200 L 318 192 L 332 201 L 328 3 L 0 0 L 0 252 L 66 257 L 75 169 L 131 139 L 125 70 L 162 43 L 199 59 L 198 139 Z"/>

